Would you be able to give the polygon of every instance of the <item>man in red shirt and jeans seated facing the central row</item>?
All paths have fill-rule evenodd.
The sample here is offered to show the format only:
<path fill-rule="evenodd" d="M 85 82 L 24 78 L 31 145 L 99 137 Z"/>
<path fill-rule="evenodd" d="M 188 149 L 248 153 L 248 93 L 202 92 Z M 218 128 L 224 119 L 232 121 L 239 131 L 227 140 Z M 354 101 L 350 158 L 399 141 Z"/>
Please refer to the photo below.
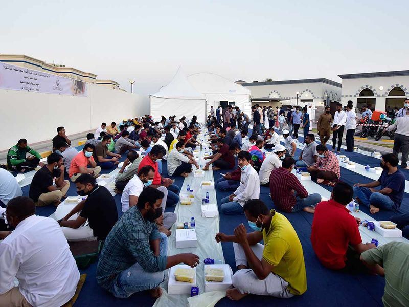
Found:
<path fill-rule="evenodd" d="M 166 200 L 166 206 L 174 206 L 179 202 L 179 187 L 175 184 L 172 184 L 170 178 L 164 178 L 158 171 L 157 160 L 161 161 L 162 157 L 166 155 L 166 150 L 162 145 L 155 145 L 152 147 L 151 151 L 145 156 L 141 163 L 139 164 L 139 169 L 146 165 L 150 165 L 155 170 L 155 177 L 153 178 L 152 184 L 150 187 L 158 188 L 164 186 L 168 189 L 168 198 Z"/>

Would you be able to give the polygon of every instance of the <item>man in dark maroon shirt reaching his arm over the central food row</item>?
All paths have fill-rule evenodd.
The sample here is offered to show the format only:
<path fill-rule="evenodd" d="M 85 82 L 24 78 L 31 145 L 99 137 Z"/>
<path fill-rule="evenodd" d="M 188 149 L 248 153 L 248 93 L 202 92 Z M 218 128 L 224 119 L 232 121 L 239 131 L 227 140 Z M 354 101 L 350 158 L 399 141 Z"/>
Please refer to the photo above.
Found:
<path fill-rule="evenodd" d="M 234 155 L 240 151 L 239 144 L 234 143 L 230 147 L 224 143 L 223 139 L 218 139 L 217 147 L 220 148 L 214 155 L 205 157 L 205 160 L 210 160 L 206 163 L 203 170 L 208 170 L 210 164 L 213 163 L 213 170 L 232 169 L 236 164 Z"/>

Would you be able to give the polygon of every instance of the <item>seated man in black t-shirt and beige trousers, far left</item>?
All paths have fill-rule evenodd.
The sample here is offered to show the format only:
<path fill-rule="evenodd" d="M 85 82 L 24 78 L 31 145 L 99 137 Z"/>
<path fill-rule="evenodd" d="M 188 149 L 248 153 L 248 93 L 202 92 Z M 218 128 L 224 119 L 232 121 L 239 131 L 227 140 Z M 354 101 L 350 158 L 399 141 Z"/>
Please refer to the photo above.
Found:
<path fill-rule="evenodd" d="M 62 164 L 62 156 L 51 153 L 47 157 L 47 164 L 41 167 L 33 177 L 30 185 L 29 196 L 38 207 L 53 204 L 58 206 L 68 189 L 70 182 L 64 180 L 65 167 Z M 55 184 L 53 182 L 54 178 Z"/>

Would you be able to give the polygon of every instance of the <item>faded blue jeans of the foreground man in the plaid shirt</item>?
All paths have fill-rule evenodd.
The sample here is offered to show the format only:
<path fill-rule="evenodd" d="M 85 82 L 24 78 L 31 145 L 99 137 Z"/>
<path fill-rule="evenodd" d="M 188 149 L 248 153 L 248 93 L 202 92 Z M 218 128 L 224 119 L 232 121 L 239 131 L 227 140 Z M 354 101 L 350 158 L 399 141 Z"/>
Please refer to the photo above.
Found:
<path fill-rule="evenodd" d="M 168 253 L 168 237 L 161 232 L 159 255 Z M 126 298 L 136 292 L 155 289 L 164 278 L 164 272 L 146 272 L 140 264 L 136 263 L 119 273 L 115 282 L 108 289 L 115 297 Z"/>

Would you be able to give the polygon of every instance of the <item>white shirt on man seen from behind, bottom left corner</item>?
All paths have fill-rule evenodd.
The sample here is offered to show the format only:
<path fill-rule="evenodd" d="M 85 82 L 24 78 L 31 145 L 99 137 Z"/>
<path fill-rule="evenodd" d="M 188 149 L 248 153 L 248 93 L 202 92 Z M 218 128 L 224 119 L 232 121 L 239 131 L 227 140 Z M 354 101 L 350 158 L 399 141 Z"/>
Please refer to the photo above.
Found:
<path fill-rule="evenodd" d="M 75 293 L 80 273 L 58 223 L 32 215 L 0 242 L 0 293 L 14 287 L 33 306 L 55 307 Z"/>

